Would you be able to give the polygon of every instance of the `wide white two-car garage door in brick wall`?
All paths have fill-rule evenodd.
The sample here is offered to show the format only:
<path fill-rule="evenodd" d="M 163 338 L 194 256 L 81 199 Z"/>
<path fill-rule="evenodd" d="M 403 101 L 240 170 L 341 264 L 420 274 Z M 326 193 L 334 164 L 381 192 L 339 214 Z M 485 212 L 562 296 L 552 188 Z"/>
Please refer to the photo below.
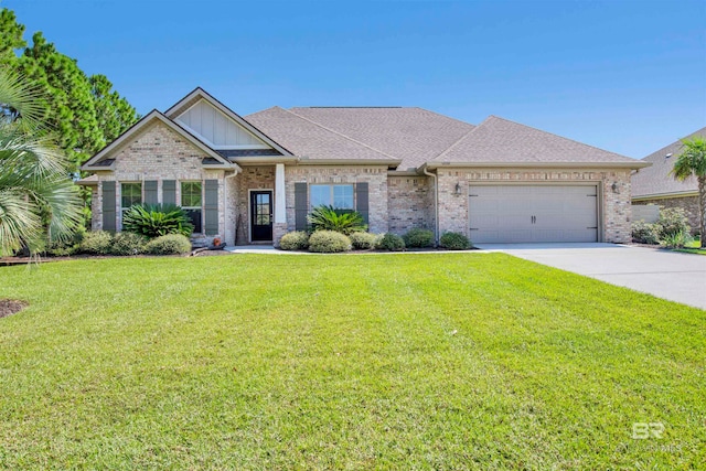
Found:
<path fill-rule="evenodd" d="M 597 242 L 596 186 L 469 186 L 473 243 Z"/>

